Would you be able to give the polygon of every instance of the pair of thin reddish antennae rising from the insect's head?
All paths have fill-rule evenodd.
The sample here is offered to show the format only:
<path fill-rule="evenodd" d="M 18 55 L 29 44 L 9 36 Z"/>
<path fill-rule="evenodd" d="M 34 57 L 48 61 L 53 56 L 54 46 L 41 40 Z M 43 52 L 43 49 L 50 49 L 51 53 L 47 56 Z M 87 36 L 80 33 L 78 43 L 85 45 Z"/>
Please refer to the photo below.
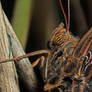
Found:
<path fill-rule="evenodd" d="M 70 27 L 70 0 L 68 0 L 68 23 L 67 23 L 66 13 L 64 11 L 63 4 L 62 4 L 61 0 L 59 0 L 59 3 L 60 3 L 60 7 L 61 7 L 61 10 L 64 15 L 64 19 L 65 19 L 66 31 L 68 31 L 69 27 Z"/>

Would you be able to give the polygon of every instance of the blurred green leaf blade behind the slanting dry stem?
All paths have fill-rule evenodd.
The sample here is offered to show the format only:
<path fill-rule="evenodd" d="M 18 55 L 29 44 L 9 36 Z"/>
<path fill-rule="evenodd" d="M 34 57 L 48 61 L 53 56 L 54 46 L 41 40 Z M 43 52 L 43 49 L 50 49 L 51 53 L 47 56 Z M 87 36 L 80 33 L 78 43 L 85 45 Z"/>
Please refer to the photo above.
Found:
<path fill-rule="evenodd" d="M 24 48 L 26 45 L 32 8 L 33 0 L 16 0 L 12 25 Z"/>

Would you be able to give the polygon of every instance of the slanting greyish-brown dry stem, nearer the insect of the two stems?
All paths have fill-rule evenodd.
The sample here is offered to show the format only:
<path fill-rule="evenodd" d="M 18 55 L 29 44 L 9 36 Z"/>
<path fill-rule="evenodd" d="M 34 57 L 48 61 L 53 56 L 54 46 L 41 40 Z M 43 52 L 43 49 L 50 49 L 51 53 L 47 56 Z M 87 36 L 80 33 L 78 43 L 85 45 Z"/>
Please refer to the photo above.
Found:
<path fill-rule="evenodd" d="M 23 51 L 23 48 L 18 38 L 16 37 L 16 34 L 14 33 L 13 28 L 11 24 L 9 23 L 5 13 L 4 13 L 4 20 L 5 20 L 6 29 L 8 31 L 8 34 L 13 39 L 12 41 L 13 57 L 16 58 L 18 56 L 24 55 L 25 52 Z M 38 87 L 37 78 L 36 78 L 36 75 L 34 73 L 34 70 L 28 58 L 23 59 L 20 62 L 16 62 L 16 65 L 17 65 L 18 75 L 20 79 L 22 80 L 22 82 L 24 83 L 25 87 L 27 87 L 27 89 L 30 92 L 37 91 L 37 87 Z"/>

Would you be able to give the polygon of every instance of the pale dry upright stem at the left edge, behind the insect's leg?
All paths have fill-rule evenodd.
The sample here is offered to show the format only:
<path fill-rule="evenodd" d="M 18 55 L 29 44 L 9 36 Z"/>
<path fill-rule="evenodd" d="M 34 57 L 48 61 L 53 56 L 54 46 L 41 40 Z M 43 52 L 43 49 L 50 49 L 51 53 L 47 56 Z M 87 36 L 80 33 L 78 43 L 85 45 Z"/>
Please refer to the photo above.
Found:
<path fill-rule="evenodd" d="M 9 58 L 9 41 L 0 3 L 0 59 Z M 12 55 L 10 55 L 12 58 Z M 0 92 L 20 92 L 14 62 L 0 64 Z"/>

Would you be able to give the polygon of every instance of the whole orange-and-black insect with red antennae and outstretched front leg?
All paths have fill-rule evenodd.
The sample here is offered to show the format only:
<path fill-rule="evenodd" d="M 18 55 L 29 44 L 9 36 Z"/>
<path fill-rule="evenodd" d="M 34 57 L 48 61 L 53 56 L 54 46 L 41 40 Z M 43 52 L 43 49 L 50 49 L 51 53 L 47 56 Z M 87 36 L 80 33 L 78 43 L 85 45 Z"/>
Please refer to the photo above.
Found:
<path fill-rule="evenodd" d="M 65 16 L 66 29 L 62 23 L 55 29 L 49 40 L 48 50 L 32 52 L 1 62 L 42 54 L 32 65 L 35 67 L 39 61 L 41 62 L 45 91 L 92 92 L 92 29 L 80 40 L 74 37 L 69 32 L 69 23 L 61 1 L 60 4 Z"/>

